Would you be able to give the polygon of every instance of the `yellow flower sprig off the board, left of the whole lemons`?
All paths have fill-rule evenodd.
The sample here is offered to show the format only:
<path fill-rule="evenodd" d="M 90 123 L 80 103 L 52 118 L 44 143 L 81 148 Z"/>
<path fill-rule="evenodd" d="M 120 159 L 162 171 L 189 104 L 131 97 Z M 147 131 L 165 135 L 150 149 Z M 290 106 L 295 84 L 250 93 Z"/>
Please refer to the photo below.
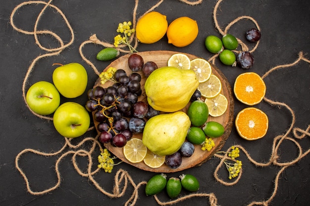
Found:
<path fill-rule="evenodd" d="M 127 45 L 131 53 L 133 53 L 133 52 L 138 52 L 138 51 L 132 45 L 130 45 L 129 40 L 128 40 L 128 38 L 133 33 L 136 32 L 134 28 L 133 29 L 130 28 L 131 25 L 132 25 L 131 21 L 128 21 L 128 22 L 124 21 L 123 23 L 118 24 L 116 32 L 123 34 L 123 36 L 118 34 L 114 37 L 114 46 L 118 47 L 119 44 L 123 43 Z"/>

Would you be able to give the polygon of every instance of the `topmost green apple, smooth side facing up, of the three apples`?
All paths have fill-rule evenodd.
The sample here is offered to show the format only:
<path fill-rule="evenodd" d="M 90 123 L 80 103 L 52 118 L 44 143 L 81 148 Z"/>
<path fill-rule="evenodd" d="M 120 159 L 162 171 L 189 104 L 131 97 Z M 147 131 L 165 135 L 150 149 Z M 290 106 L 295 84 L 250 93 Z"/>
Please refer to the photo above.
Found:
<path fill-rule="evenodd" d="M 52 74 L 53 83 L 59 93 L 67 98 L 75 98 L 84 93 L 87 86 L 87 72 L 79 63 L 57 67 Z"/>

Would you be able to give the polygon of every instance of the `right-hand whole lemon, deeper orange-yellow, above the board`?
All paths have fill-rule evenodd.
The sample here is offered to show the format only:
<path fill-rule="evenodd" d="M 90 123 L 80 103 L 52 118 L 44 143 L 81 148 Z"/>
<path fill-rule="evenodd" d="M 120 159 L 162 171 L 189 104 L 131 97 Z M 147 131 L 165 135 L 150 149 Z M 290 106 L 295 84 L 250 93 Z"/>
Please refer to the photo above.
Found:
<path fill-rule="evenodd" d="M 195 20 L 182 16 L 175 19 L 168 26 L 168 43 L 177 47 L 187 46 L 198 36 L 198 24 Z"/>

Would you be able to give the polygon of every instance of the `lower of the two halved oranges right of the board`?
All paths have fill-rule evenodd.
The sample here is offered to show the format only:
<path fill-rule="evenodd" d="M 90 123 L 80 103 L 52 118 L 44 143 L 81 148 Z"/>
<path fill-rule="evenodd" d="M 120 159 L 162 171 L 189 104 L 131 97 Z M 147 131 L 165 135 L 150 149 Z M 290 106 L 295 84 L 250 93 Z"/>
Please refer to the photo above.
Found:
<path fill-rule="evenodd" d="M 242 138 L 256 140 L 262 138 L 267 133 L 268 117 L 257 108 L 248 107 L 237 114 L 235 125 Z"/>

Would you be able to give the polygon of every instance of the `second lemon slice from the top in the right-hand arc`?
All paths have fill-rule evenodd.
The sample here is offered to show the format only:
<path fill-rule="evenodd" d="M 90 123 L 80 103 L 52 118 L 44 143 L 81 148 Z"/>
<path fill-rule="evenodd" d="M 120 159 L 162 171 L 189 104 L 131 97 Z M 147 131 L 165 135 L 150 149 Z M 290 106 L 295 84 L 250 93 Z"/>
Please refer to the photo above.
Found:
<path fill-rule="evenodd" d="M 205 59 L 193 59 L 191 61 L 191 70 L 195 72 L 199 83 L 206 82 L 212 73 L 211 65 Z"/>

